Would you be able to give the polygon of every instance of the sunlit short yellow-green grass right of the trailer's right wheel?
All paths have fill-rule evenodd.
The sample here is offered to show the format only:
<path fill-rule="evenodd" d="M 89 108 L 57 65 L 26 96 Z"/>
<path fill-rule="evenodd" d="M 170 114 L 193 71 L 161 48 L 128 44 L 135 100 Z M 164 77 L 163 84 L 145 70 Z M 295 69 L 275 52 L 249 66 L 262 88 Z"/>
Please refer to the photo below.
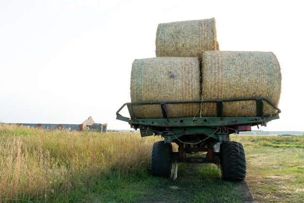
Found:
<path fill-rule="evenodd" d="M 263 203 L 303 201 L 304 148 L 297 142 L 277 146 L 261 142 L 262 147 L 247 144 L 246 182 L 254 198 Z"/>

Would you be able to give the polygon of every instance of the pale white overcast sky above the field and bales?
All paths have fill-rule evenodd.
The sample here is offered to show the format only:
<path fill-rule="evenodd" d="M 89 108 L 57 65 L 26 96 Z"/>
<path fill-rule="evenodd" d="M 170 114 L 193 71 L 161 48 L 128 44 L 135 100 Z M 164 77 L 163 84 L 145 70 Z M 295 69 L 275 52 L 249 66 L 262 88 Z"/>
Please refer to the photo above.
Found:
<path fill-rule="evenodd" d="M 116 111 L 131 101 L 133 61 L 155 57 L 158 24 L 215 18 L 221 51 L 280 62 L 280 119 L 260 129 L 304 131 L 303 10 L 302 0 L 0 0 L 0 122 L 92 116 L 131 129 Z"/>

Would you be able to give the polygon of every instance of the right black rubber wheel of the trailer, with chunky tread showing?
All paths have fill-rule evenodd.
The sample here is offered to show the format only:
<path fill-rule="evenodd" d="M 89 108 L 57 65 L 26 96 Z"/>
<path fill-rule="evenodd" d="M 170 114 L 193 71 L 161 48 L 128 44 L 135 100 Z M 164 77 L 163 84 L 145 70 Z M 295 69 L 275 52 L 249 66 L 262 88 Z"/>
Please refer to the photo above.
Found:
<path fill-rule="evenodd" d="M 229 181 L 241 181 L 246 176 L 245 151 L 241 143 L 224 142 L 220 145 L 221 177 Z"/>

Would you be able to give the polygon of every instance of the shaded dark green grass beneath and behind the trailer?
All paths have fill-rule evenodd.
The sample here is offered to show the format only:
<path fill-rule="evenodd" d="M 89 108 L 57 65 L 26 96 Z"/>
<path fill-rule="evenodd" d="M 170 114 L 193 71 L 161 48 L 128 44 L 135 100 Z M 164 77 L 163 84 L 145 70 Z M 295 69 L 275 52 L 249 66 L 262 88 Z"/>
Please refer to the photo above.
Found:
<path fill-rule="evenodd" d="M 109 185 L 116 186 L 105 189 L 102 181 L 102 186 L 84 202 L 97 199 L 100 203 L 243 203 L 248 198 L 239 192 L 246 185 L 221 181 L 215 166 L 180 164 L 180 172 L 183 174 L 176 181 L 147 174 L 123 181 L 112 179 Z"/>

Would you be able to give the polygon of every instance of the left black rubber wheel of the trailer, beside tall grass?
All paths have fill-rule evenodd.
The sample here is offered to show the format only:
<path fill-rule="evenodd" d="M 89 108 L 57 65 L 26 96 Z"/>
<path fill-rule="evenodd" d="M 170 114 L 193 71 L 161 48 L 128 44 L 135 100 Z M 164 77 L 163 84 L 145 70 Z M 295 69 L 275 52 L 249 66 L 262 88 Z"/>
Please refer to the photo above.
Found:
<path fill-rule="evenodd" d="M 172 145 L 164 141 L 155 142 L 151 153 L 151 170 L 153 176 L 171 177 Z"/>

